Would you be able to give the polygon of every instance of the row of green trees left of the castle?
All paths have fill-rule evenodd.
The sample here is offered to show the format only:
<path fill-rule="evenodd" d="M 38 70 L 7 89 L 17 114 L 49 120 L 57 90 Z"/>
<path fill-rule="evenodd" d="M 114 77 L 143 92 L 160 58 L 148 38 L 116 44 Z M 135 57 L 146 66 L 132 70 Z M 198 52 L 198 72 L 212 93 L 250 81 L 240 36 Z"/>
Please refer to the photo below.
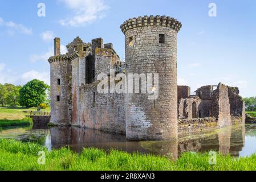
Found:
<path fill-rule="evenodd" d="M 40 80 L 31 80 L 26 85 L 0 84 L 2 107 L 38 107 L 50 104 L 50 86 Z"/>

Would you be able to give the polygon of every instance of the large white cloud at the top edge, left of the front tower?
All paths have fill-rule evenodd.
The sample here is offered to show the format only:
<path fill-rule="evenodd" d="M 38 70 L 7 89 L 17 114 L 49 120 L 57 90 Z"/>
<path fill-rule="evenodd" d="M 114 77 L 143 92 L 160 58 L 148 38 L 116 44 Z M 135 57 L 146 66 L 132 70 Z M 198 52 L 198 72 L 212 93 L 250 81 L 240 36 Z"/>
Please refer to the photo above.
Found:
<path fill-rule="evenodd" d="M 59 0 L 74 11 L 70 18 L 59 21 L 62 26 L 82 27 L 105 16 L 109 6 L 104 0 Z"/>

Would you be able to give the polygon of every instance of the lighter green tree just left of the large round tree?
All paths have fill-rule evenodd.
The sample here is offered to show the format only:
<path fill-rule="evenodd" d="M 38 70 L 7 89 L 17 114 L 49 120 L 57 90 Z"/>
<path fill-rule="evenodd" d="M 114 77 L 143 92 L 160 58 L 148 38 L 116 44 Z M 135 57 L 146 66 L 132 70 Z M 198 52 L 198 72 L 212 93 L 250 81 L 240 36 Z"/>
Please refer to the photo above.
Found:
<path fill-rule="evenodd" d="M 18 85 L 15 86 L 13 84 L 5 84 L 6 90 L 7 90 L 7 96 L 6 96 L 6 104 L 10 106 L 18 106 L 19 105 L 19 90 L 22 88 L 22 86 Z"/>

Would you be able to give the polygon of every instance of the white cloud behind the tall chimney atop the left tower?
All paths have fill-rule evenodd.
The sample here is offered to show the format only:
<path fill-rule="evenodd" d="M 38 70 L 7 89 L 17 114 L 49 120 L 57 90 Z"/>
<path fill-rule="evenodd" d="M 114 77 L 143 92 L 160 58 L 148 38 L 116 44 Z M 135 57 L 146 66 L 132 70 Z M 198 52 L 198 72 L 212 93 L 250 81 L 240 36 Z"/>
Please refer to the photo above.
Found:
<path fill-rule="evenodd" d="M 66 54 L 67 48 L 63 45 L 60 45 L 60 53 Z M 54 56 L 54 47 L 52 46 L 51 48 L 48 49 L 46 53 L 43 53 L 41 55 L 31 55 L 29 60 L 32 63 L 35 63 L 36 61 L 47 61 L 49 57 Z"/>

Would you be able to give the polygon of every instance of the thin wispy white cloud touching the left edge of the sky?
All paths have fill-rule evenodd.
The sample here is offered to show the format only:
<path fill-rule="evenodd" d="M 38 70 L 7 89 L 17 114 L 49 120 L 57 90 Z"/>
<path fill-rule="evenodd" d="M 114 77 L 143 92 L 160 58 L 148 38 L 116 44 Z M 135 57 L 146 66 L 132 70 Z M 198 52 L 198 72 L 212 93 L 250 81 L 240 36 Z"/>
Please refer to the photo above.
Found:
<path fill-rule="evenodd" d="M 7 28 L 10 28 L 11 30 L 9 30 L 8 32 L 11 32 L 12 35 L 14 34 L 14 31 L 18 31 L 26 35 L 32 34 L 31 28 L 28 28 L 21 23 L 14 23 L 12 21 L 5 22 L 5 20 L 3 20 L 1 17 L 0 17 L 0 26 L 5 26 Z"/>

